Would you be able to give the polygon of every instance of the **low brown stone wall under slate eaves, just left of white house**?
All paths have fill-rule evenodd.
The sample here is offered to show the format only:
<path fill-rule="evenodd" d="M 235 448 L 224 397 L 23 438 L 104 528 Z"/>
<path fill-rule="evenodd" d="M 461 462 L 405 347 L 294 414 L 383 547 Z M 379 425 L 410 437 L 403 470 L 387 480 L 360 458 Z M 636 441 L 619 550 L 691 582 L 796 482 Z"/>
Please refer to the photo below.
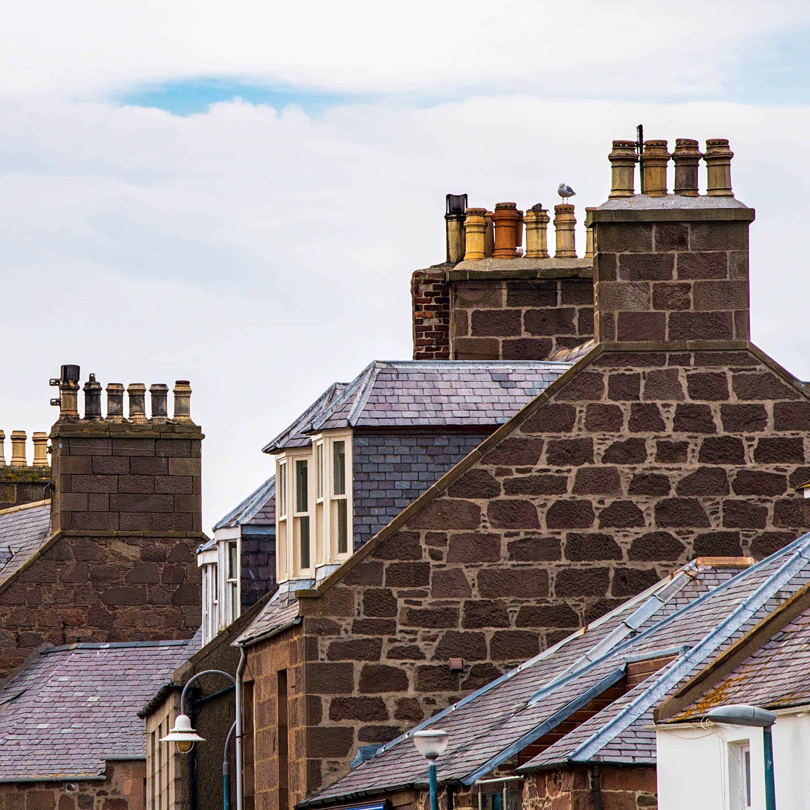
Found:
<path fill-rule="evenodd" d="M 658 807 L 655 769 L 600 766 L 599 799 L 603 810 Z M 522 810 L 595 810 L 590 769 L 566 768 L 527 774 L 523 782 Z"/>

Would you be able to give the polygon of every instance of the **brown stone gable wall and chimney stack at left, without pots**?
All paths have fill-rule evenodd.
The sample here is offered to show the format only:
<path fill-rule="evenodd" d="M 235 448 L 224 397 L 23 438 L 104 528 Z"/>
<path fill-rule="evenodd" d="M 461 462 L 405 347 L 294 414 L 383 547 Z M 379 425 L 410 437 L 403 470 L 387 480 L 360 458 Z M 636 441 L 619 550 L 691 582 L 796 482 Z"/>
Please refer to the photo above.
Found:
<path fill-rule="evenodd" d="M 54 425 L 52 535 L 0 583 L 0 674 L 43 644 L 194 635 L 202 438 L 196 425 Z"/>

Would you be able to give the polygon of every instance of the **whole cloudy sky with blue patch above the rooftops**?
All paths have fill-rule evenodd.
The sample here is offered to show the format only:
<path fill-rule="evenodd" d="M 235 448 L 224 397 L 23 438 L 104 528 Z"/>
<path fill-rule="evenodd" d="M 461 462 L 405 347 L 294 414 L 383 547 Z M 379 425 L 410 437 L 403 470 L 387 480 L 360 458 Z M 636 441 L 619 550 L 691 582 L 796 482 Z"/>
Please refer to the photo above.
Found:
<path fill-rule="evenodd" d="M 810 379 L 808 45 L 810 4 L 780 0 L 15 3 L 0 429 L 49 429 L 63 363 L 188 379 L 210 530 L 330 383 L 411 356 L 446 193 L 551 207 L 566 182 L 582 254 L 638 123 L 731 141 L 757 209 L 752 339 Z"/>

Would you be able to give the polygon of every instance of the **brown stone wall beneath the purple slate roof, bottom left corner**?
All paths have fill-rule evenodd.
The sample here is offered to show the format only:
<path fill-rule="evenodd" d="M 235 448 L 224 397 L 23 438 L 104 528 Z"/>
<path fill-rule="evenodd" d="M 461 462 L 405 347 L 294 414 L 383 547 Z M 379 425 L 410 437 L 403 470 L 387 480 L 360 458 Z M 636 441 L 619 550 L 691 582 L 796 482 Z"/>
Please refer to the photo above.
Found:
<path fill-rule="evenodd" d="M 146 810 L 146 775 L 143 760 L 108 762 L 103 782 L 6 782 L 0 800 L 3 810 Z"/>

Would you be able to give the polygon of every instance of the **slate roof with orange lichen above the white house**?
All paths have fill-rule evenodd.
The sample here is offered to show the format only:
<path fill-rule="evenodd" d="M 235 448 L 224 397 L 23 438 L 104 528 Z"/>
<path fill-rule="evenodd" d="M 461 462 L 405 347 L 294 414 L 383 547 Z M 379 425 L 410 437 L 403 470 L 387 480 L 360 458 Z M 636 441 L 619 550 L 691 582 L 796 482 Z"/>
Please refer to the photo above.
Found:
<path fill-rule="evenodd" d="M 714 706 L 787 709 L 810 703 L 810 610 L 774 633 L 717 686 L 668 722 L 702 718 Z"/>

